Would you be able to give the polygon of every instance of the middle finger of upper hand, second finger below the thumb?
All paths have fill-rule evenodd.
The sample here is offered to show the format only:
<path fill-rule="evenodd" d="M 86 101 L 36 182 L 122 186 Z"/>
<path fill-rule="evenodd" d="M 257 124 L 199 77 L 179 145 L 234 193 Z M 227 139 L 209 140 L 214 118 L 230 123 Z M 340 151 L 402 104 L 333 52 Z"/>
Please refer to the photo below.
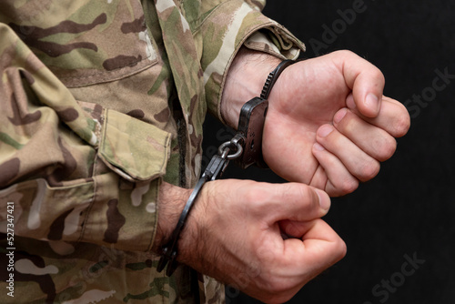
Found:
<path fill-rule="evenodd" d="M 382 128 L 369 124 L 347 108 L 342 108 L 335 114 L 333 123 L 342 135 L 348 137 L 370 157 L 385 161 L 395 153 L 397 142 L 394 137 Z"/>

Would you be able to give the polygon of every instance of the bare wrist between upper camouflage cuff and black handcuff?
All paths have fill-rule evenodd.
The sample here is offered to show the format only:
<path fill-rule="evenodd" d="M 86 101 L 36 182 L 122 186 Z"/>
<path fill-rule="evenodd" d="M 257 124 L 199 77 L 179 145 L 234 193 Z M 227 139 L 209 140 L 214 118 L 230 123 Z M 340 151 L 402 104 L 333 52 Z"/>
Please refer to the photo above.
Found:
<path fill-rule="evenodd" d="M 221 98 L 221 116 L 228 126 L 237 128 L 241 107 L 260 95 L 268 74 L 279 62 L 276 56 L 240 48 L 229 67 Z"/>

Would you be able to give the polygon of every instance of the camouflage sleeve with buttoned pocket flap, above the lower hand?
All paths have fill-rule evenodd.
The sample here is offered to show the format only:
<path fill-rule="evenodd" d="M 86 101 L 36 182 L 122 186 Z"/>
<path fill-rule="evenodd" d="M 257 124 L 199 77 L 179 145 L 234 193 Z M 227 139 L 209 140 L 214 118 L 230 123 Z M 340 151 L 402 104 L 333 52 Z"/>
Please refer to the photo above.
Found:
<path fill-rule="evenodd" d="M 170 135 L 76 101 L 8 25 L 0 41 L 0 232 L 150 249 Z"/>

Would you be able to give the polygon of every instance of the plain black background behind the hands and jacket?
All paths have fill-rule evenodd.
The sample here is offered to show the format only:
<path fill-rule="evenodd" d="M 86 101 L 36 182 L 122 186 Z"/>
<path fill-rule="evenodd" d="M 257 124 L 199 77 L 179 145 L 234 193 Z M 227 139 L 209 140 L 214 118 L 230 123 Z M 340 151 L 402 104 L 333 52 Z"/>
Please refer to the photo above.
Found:
<path fill-rule="evenodd" d="M 306 43 L 305 57 L 349 49 L 378 66 L 385 95 L 407 105 L 412 117 L 379 176 L 332 199 L 325 219 L 346 241 L 346 258 L 289 303 L 455 303 L 455 1 L 365 0 L 365 11 L 343 26 L 339 10 L 356 2 L 269 0 L 264 12 Z M 329 37 L 325 28 L 333 26 L 338 33 Z M 316 40 L 325 46 L 316 48 Z M 453 76 L 443 89 L 438 80 L 436 90 L 438 71 Z M 205 127 L 207 162 L 228 132 L 213 118 Z M 225 177 L 282 182 L 257 168 L 231 166 Z M 402 275 L 405 255 L 425 261 L 410 276 Z M 381 284 L 390 279 L 388 291 Z M 228 288 L 227 302 L 255 300 Z"/>

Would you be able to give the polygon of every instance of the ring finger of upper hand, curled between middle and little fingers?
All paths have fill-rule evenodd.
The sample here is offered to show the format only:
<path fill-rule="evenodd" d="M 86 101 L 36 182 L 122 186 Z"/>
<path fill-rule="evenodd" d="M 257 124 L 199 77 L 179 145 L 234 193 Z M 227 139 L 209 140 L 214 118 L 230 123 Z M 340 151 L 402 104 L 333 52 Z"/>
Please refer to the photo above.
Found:
<path fill-rule="evenodd" d="M 359 180 L 367 181 L 379 173 L 378 160 L 362 151 L 335 127 L 331 125 L 319 127 L 316 138 L 322 147 L 338 157 L 350 174 Z"/>

